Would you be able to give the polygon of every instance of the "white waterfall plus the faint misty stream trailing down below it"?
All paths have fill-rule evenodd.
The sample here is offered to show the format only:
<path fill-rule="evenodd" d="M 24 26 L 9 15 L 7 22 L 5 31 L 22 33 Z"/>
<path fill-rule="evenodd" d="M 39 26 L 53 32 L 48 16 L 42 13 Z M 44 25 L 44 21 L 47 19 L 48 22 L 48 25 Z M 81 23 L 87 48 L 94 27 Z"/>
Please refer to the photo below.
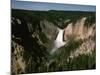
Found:
<path fill-rule="evenodd" d="M 50 63 L 52 63 L 54 61 L 54 59 L 52 59 L 52 56 L 57 51 L 57 49 L 66 44 L 66 42 L 63 41 L 64 29 L 62 30 L 62 29 L 58 28 L 58 31 L 59 31 L 59 33 L 58 33 L 58 35 L 57 35 L 57 37 L 56 37 L 56 39 L 53 43 L 53 47 L 52 47 L 51 51 L 50 51 L 50 56 L 49 56 L 49 59 L 48 59 L 49 62 L 47 62 L 47 64 L 46 64 L 47 67 L 50 65 Z"/>

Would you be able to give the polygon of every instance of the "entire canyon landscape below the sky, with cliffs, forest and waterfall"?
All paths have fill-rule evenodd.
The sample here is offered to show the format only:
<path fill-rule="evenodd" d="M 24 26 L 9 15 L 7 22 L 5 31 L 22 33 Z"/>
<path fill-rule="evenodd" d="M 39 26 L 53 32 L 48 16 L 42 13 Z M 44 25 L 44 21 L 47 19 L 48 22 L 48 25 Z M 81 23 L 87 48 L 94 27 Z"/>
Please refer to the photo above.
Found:
<path fill-rule="evenodd" d="M 94 69 L 94 14 L 12 10 L 12 73 Z"/>

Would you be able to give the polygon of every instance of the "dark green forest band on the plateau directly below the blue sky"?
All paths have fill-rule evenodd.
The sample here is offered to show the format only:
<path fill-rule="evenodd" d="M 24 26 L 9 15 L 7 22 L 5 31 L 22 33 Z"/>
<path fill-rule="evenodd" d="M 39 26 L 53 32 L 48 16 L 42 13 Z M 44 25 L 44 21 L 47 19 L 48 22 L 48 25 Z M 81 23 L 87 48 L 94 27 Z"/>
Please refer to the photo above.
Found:
<path fill-rule="evenodd" d="M 18 14 L 19 13 L 19 14 Z M 87 17 L 86 23 L 95 23 L 95 12 L 82 12 L 82 11 L 27 11 L 27 10 L 12 10 L 12 16 L 17 18 L 26 19 L 32 22 L 33 25 L 37 25 L 41 20 L 48 20 L 53 22 L 56 26 L 64 28 L 67 19 L 70 19 L 72 23 L 75 23 L 78 19 L 82 17 Z M 27 16 L 25 16 L 27 15 Z M 64 24 L 65 23 L 65 24 Z M 63 25 L 63 26 L 62 26 Z"/>

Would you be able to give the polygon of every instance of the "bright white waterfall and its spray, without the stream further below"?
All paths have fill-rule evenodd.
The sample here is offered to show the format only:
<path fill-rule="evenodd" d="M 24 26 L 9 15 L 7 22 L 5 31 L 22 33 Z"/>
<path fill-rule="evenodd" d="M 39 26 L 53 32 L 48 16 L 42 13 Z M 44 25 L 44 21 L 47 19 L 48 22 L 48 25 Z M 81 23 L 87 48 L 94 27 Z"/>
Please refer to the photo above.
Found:
<path fill-rule="evenodd" d="M 56 52 L 56 50 L 62 46 L 64 46 L 66 44 L 66 42 L 63 41 L 63 32 L 64 32 L 64 29 L 59 29 L 58 28 L 58 35 L 57 35 L 57 38 L 56 40 L 54 41 L 54 45 L 52 47 L 52 50 L 50 52 L 50 54 L 54 54 Z"/>

